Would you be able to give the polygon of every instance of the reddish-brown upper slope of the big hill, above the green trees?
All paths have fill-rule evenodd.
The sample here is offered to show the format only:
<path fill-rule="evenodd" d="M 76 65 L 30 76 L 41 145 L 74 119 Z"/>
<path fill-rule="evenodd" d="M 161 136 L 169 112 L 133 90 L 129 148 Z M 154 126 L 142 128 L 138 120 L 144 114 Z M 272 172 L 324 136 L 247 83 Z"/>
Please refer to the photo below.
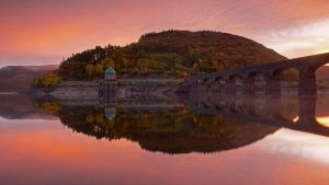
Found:
<path fill-rule="evenodd" d="M 134 44 L 133 44 L 134 46 Z M 220 32 L 168 31 L 140 37 L 136 47 L 147 53 L 178 53 L 186 56 L 186 67 L 211 61 L 211 69 L 223 70 L 286 59 L 246 37 Z"/>

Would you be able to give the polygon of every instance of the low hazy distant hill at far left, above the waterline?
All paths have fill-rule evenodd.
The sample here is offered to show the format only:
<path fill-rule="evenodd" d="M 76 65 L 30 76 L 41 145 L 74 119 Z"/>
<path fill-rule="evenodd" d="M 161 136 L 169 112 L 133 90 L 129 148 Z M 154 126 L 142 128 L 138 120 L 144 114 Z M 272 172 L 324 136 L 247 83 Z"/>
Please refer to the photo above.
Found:
<path fill-rule="evenodd" d="M 0 91 L 29 90 L 34 79 L 57 68 L 57 65 L 3 67 L 0 69 Z"/>

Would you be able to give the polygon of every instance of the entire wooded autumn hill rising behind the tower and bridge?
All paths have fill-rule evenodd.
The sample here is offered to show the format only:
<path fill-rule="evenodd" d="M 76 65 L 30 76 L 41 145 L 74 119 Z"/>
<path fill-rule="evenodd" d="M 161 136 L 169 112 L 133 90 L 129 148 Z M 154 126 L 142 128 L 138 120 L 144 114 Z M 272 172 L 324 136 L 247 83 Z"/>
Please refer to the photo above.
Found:
<path fill-rule="evenodd" d="M 102 78 L 109 66 L 125 74 L 168 73 L 186 78 L 195 73 L 241 68 L 286 59 L 251 39 L 220 32 L 166 31 L 143 35 L 125 47 L 106 46 L 75 54 L 64 60 L 63 80 Z"/>

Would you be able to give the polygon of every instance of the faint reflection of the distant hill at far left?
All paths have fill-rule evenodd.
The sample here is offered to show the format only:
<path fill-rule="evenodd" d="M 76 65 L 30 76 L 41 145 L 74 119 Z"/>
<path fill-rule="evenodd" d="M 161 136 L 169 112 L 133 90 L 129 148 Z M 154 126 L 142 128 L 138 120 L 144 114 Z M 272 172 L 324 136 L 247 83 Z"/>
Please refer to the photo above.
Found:
<path fill-rule="evenodd" d="M 56 119 L 44 111 L 34 107 L 29 96 L 0 95 L 0 116 L 8 119 Z"/>

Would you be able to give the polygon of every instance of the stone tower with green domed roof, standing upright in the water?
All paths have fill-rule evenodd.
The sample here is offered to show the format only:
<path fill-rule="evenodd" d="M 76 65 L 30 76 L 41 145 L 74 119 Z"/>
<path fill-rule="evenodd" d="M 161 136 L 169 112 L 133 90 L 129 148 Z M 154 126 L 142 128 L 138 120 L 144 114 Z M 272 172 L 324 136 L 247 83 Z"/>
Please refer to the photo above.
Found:
<path fill-rule="evenodd" d="M 116 102 L 117 80 L 115 70 L 109 67 L 105 70 L 104 81 L 100 84 L 100 96 L 105 103 Z"/>

